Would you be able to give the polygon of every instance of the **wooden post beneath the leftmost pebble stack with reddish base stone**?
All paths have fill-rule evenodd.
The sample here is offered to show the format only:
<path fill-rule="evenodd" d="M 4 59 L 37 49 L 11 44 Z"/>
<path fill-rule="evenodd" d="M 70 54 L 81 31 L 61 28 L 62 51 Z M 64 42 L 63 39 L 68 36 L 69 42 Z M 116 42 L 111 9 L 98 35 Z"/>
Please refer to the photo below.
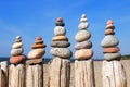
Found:
<path fill-rule="evenodd" d="M 11 64 L 9 66 L 9 87 L 25 87 L 24 64 Z"/>

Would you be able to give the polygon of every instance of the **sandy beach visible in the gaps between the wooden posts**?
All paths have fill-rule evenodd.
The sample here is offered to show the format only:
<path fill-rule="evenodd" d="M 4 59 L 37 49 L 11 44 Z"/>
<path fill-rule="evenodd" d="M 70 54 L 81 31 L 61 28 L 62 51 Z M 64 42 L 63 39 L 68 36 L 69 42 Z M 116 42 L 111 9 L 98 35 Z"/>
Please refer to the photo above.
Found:
<path fill-rule="evenodd" d="M 126 70 L 126 77 L 127 77 L 127 87 L 130 87 L 130 60 L 121 60 L 121 64 Z M 95 75 L 95 87 L 102 87 L 102 61 L 94 61 L 94 75 Z M 43 76 L 44 76 L 44 87 L 48 87 L 48 64 L 43 65 Z M 75 67 L 74 63 L 70 65 L 70 86 L 75 87 Z"/>

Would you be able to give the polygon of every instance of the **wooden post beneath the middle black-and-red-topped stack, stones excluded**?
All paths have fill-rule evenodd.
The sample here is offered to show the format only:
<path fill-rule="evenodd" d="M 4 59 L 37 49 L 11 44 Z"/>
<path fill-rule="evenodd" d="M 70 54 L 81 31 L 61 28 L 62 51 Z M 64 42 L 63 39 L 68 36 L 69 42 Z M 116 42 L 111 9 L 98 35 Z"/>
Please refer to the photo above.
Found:
<path fill-rule="evenodd" d="M 69 59 L 54 58 L 49 63 L 48 87 L 69 87 L 70 61 Z"/>

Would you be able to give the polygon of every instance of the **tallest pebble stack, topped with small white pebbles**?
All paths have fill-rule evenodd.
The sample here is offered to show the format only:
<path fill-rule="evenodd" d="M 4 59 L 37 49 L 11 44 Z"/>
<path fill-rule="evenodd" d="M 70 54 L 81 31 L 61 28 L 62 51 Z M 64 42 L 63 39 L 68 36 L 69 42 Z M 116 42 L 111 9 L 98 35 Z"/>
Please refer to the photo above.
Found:
<path fill-rule="evenodd" d="M 89 40 L 91 37 L 90 32 L 87 29 L 89 27 L 89 23 L 87 21 L 87 15 L 82 14 L 80 24 L 78 25 L 79 32 L 76 34 L 75 39 L 78 42 L 75 46 L 77 50 L 75 52 L 75 59 L 77 60 L 88 60 L 93 55 L 92 42 Z"/>

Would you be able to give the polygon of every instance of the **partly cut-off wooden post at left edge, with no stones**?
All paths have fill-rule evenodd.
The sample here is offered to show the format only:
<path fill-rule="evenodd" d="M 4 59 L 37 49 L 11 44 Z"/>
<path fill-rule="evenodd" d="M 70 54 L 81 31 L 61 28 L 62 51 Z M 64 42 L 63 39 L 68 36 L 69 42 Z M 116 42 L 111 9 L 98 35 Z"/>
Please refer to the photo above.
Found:
<path fill-rule="evenodd" d="M 8 87 L 8 62 L 0 62 L 0 87 Z"/>

